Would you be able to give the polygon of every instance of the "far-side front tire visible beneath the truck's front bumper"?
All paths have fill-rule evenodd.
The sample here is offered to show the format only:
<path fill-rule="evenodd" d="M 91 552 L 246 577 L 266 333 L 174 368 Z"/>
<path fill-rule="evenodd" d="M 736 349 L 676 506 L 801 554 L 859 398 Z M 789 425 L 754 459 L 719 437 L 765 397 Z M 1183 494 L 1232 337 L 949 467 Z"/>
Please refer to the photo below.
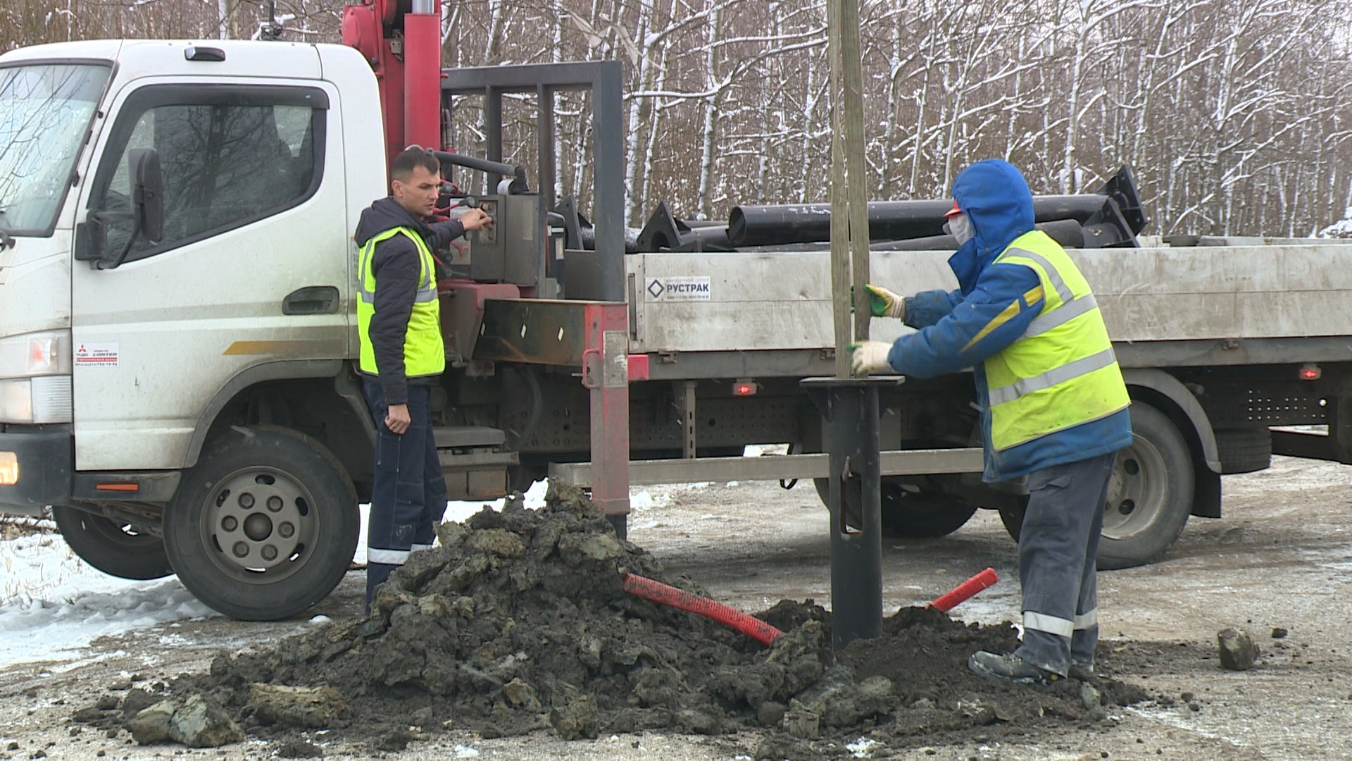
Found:
<path fill-rule="evenodd" d="M 123 520 L 68 506 L 53 506 L 51 517 L 70 550 L 108 575 L 145 581 L 173 573 L 164 540 Z"/>

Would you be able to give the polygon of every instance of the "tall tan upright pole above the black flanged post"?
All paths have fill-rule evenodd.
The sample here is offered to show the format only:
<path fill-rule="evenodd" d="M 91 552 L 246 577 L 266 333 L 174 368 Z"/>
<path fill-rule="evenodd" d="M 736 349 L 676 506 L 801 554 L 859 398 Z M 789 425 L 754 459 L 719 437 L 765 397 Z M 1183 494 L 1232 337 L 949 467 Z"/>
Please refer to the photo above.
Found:
<path fill-rule="evenodd" d="M 826 0 L 831 84 L 831 314 L 836 376 L 850 376 L 849 344 L 868 339 L 868 184 L 859 0 Z M 850 320 L 850 292 L 857 309 Z"/>

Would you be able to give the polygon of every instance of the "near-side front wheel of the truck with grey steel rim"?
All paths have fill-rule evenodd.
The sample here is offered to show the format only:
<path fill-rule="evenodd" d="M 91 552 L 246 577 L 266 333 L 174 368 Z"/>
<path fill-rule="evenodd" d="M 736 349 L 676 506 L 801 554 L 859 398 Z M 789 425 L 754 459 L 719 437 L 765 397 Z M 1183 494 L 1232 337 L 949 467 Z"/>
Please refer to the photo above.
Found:
<path fill-rule="evenodd" d="M 357 550 L 357 492 L 319 441 L 234 427 L 184 474 L 165 510 L 178 580 L 243 620 L 293 616 L 333 592 Z"/>

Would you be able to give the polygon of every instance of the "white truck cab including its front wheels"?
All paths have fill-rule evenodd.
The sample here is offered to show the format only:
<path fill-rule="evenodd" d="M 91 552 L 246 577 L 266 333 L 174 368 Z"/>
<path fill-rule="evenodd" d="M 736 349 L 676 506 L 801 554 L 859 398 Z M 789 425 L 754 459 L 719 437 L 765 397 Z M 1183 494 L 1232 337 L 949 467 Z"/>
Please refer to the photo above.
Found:
<path fill-rule="evenodd" d="M 346 46 L 0 56 L 0 508 L 54 505 L 72 547 L 116 575 L 173 573 L 162 536 L 178 529 L 227 577 L 311 588 L 266 615 L 208 601 L 242 617 L 327 594 L 356 546 L 352 482 L 370 469 L 370 421 L 335 379 L 353 383 L 350 230 L 385 194 L 383 134 L 376 77 Z M 223 435 L 245 418 L 265 431 Z M 312 451 L 312 470 L 346 481 L 329 485 L 342 519 L 314 520 L 323 478 L 233 467 L 222 440 Z M 204 448 L 222 464 L 192 470 Z M 165 525 L 185 473 L 233 505 L 214 528 Z M 341 562 L 307 562 L 319 552 Z"/>

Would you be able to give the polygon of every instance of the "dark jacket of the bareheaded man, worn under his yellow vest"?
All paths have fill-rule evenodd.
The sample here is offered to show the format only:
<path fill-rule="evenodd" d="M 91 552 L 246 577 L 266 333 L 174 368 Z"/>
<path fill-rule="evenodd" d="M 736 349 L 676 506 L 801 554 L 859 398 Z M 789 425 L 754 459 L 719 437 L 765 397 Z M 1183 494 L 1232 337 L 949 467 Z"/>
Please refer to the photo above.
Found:
<path fill-rule="evenodd" d="M 361 213 L 354 236 L 357 248 L 393 227 L 418 230 L 430 251 L 445 248 L 465 234 L 465 227 L 458 219 L 429 225 L 399 206 L 395 199 L 381 198 Z M 380 386 L 385 391 L 387 404 L 407 404 L 410 382 L 431 383 L 431 378 L 410 380 L 404 375 L 404 336 L 408 333 L 408 317 L 414 311 L 414 299 L 418 295 L 418 249 L 404 236 L 385 238 L 376 244 L 370 271 L 376 278 L 376 313 L 370 318 L 369 333 L 376 352 L 376 368 L 380 371 Z"/>

